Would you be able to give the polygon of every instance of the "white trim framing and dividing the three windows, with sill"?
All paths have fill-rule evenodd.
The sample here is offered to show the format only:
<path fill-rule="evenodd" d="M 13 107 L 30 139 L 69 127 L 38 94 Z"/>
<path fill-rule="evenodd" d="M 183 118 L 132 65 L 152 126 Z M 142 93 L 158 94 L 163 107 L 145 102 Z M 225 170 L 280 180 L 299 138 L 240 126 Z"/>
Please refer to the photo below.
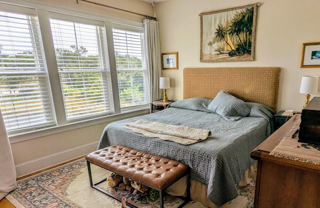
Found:
<path fill-rule="evenodd" d="M 115 17 L 95 14 L 86 11 L 80 11 L 71 8 L 59 7 L 52 4 L 47 4 L 43 2 L 31 2 L 25 0 L 15 0 L 15 5 L 12 5 L 10 0 L 1 0 L 0 6 L 1 10 L 12 11 L 19 13 L 23 12 L 23 9 L 36 9 L 37 17 L 40 25 L 40 31 L 43 41 L 43 48 L 45 57 L 54 56 L 55 51 L 53 48 L 53 44 L 47 44 L 47 42 L 52 42 L 51 30 L 49 25 L 49 18 L 52 14 L 54 15 L 66 15 L 73 16 L 75 18 L 82 18 L 88 21 L 99 21 L 103 22 L 104 28 L 106 30 L 106 38 L 107 38 L 107 50 L 109 56 L 109 65 L 110 65 L 110 76 L 111 76 L 111 87 L 113 93 L 113 105 L 114 105 L 114 114 L 113 115 L 105 115 L 100 117 L 94 117 L 79 121 L 74 121 L 68 123 L 66 121 L 62 92 L 60 83 L 56 80 L 59 80 L 58 70 L 55 58 L 46 58 L 46 65 L 48 68 L 49 74 L 49 82 L 51 86 L 51 93 L 54 94 L 53 106 L 54 112 L 56 115 L 56 125 L 45 127 L 42 129 L 35 129 L 32 131 L 26 131 L 22 133 L 13 133 L 9 134 L 10 143 L 15 143 L 27 139 L 32 139 L 36 137 L 46 136 L 58 132 L 63 132 L 71 129 L 81 128 L 85 126 L 95 125 L 104 122 L 112 122 L 117 119 L 123 119 L 126 117 L 141 115 L 149 113 L 149 104 L 139 105 L 136 107 L 128 107 L 125 109 L 120 108 L 119 104 L 119 96 L 118 96 L 118 88 L 117 88 L 117 78 L 116 78 L 116 68 L 115 68 L 115 57 L 114 57 L 114 48 L 113 48 L 113 40 L 112 40 L 112 26 L 114 23 L 127 25 L 131 28 L 140 28 L 143 29 L 142 22 L 129 21 L 124 19 L 118 19 Z M 81 17 L 78 16 L 78 13 L 81 13 Z M 49 35 L 48 35 L 49 34 Z M 147 80 L 145 80 L 148 83 Z M 58 95 L 58 96 L 56 96 Z"/>

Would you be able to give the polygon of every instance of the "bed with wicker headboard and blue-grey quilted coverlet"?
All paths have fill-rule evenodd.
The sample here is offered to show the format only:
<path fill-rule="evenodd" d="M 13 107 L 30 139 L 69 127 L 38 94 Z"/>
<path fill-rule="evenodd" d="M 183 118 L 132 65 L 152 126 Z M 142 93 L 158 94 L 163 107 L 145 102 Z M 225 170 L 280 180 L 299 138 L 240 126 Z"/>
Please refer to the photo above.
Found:
<path fill-rule="evenodd" d="M 108 124 L 98 149 L 122 144 L 181 161 L 191 168 L 191 199 L 227 207 L 237 196 L 235 184 L 255 163 L 249 153 L 273 131 L 279 73 L 279 67 L 184 68 L 182 100 L 156 113 Z M 230 106 L 238 111 L 231 116 L 230 111 L 225 114 Z M 185 145 L 123 128 L 139 119 L 206 129 L 210 134 Z"/>

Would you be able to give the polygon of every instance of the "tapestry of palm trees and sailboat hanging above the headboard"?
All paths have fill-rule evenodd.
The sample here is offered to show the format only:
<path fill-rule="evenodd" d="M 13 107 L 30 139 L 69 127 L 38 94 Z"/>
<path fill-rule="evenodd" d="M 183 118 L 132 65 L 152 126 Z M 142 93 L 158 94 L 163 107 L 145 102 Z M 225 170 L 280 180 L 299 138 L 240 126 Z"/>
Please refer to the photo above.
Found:
<path fill-rule="evenodd" d="M 200 13 L 200 62 L 253 60 L 257 6 Z"/>

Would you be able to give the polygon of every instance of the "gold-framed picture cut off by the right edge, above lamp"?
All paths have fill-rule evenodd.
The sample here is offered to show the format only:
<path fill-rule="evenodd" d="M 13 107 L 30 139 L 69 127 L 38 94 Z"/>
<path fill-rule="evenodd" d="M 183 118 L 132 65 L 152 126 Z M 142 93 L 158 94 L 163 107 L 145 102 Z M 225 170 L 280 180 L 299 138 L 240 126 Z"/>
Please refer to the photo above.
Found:
<path fill-rule="evenodd" d="M 302 44 L 300 67 L 320 67 L 320 42 Z"/>

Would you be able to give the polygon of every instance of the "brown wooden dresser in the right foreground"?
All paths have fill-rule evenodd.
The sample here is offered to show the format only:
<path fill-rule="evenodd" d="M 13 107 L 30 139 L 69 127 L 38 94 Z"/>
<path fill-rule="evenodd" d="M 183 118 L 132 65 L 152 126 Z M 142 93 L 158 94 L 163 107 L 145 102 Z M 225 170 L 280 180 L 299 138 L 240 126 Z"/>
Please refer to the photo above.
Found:
<path fill-rule="evenodd" d="M 269 155 L 300 116 L 292 116 L 250 153 L 258 162 L 255 208 L 320 207 L 320 165 Z"/>

